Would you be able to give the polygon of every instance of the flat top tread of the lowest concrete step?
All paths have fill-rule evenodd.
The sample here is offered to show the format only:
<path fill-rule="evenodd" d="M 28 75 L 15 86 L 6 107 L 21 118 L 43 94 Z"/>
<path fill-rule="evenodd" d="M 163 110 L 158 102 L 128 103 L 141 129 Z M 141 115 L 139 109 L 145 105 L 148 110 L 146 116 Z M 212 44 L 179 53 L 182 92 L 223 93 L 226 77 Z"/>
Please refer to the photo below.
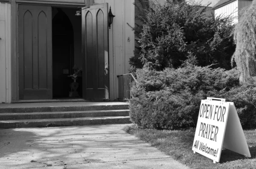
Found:
<path fill-rule="evenodd" d="M 54 119 L 23 119 L 23 120 L 0 120 L 0 123 L 15 123 L 15 122 L 45 122 L 45 121 L 69 121 L 69 120 L 93 120 L 93 119 L 118 119 L 130 118 L 130 116 L 100 116 L 100 117 L 78 117 L 78 118 L 54 118 Z"/>

